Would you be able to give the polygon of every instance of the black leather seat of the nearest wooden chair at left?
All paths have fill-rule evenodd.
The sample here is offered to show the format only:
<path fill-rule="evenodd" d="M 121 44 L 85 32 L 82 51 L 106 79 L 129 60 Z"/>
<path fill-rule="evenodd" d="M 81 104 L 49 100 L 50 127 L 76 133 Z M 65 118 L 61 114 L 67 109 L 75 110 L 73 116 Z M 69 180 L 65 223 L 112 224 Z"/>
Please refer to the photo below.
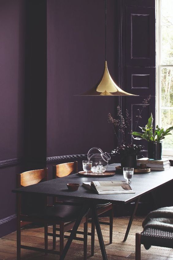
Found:
<path fill-rule="evenodd" d="M 64 222 L 71 222 L 77 219 L 79 212 L 81 211 L 81 206 L 71 206 L 71 205 L 55 205 L 52 207 L 46 207 L 43 211 L 36 214 L 30 214 L 30 216 L 38 217 L 41 219 L 52 219 L 52 220 L 63 220 Z M 85 213 L 85 215 L 87 212 Z"/>

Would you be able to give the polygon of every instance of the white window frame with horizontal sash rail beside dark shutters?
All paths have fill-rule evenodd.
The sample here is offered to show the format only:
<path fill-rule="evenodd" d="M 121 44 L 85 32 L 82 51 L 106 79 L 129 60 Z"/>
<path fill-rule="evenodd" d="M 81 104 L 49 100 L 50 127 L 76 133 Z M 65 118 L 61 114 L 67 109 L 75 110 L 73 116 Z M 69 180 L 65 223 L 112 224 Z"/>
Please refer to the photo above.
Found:
<path fill-rule="evenodd" d="M 162 0 L 163 1 L 163 0 Z M 161 0 L 156 0 L 156 125 L 161 126 L 161 69 L 163 67 L 173 67 L 173 65 L 161 64 Z M 163 156 L 173 156 L 172 149 L 163 149 Z"/>

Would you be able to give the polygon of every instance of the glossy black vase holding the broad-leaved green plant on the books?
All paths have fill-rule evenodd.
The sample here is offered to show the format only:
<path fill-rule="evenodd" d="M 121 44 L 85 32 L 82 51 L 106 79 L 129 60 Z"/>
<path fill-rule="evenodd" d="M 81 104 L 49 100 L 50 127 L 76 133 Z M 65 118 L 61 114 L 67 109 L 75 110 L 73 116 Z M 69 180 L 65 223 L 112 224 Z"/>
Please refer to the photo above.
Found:
<path fill-rule="evenodd" d="M 148 159 L 162 159 L 162 142 L 148 142 Z"/>

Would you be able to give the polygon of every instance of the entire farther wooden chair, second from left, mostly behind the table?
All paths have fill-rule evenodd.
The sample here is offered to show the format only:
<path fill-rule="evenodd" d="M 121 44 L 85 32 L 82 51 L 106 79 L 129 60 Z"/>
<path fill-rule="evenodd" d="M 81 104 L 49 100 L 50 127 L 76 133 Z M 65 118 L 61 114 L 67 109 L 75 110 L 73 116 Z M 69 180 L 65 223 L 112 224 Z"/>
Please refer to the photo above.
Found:
<path fill-rule="evenodd" d="M 65 177 L 70 174 L 75 174 L 78 172 L 77 169 L 77 161 L 71 163 L 61 163 L 57 165 L 53 165 L 53 179 Z M 57 198 L 54 198 L 53 204 L 62 203 Z M 70 199 L 63 201 L 64 204 L 68 205 L 79 205 L 81 202 L 77 199 Z M 112 243 L 112 234 L 113 234 L 113 205 L 112 203 L 103 203 L 97 205 L 97 214 L 101 216 L 103 213 L 110 211 L 110 221 L 104 222 L 99 221 L 100 224 L 109 225 L 110 226 L 110 244 Z M 89 213 L 89 218 L 91 218 L 91 232 L 88 232 L 88 235 L 91 236 L 91 256 L 94 255 L 94 237 L 95 237 L 95 224 L 94 220 L 92 220 L 92 216 Z M 56 233 L 56 226 L 53 227 L 53 232 Z M 83 231 L 77 231 L 77 234 L 83 234 Z M 56 235 L 57 236 L 57 235 Z M 55 248 L 56 237 L 53 236 L 53 248 Z"/>

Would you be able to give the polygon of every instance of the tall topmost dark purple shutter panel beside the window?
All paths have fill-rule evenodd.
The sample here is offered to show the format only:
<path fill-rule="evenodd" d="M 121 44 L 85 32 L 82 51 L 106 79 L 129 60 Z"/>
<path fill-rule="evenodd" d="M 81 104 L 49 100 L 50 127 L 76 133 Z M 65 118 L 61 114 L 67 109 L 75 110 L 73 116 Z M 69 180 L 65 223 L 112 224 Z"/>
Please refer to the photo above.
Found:
<path fill-rule="evenodd" d="M 155 66 L 155 9 L 125 6 L 125 36 L 126 65 Z"/>

